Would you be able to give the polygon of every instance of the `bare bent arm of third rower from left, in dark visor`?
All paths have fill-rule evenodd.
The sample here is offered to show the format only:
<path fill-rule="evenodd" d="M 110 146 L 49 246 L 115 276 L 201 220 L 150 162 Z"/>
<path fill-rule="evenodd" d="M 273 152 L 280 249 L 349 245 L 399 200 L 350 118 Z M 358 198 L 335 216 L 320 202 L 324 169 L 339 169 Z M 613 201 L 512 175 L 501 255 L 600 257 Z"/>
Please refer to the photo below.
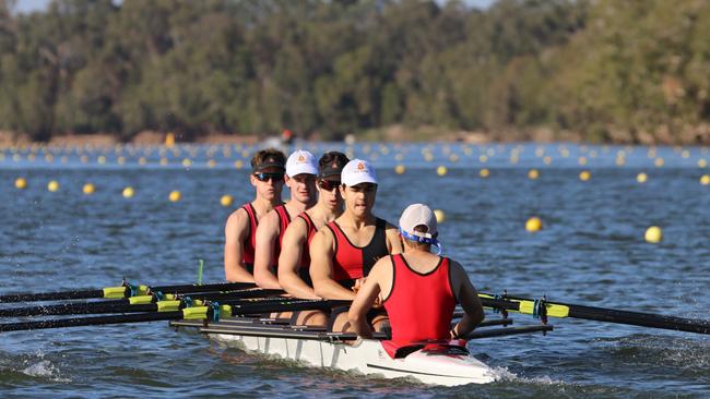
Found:
<path fill-rule="evenodd" d="M 308 240 L 308 228 L 303 218 L 295 218 L 284 232 L 281 255 L 279 255 L 279 283 L 296 298 L 318 299 L 316 291 L 298 275 L 304 244 Z"/>

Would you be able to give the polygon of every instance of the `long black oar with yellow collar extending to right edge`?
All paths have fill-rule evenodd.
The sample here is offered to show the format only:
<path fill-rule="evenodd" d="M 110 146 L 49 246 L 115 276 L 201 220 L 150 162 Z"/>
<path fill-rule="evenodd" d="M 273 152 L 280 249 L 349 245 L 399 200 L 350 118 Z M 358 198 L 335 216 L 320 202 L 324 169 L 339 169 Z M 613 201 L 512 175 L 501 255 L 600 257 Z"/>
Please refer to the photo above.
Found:
<path fill-rule="evenodd" d="M 710 334 L 710 321 L 665 316 L 652 313 L 619 311 L 613 309 L 575 305 L 546 300 L 516 297 L 496 297 L 480 293 L 486 307 L 519 312 L 542 317 L 575 317 L 588 321 L 628 324 L 632 326 L 672 329 L 676 331 Z"/>

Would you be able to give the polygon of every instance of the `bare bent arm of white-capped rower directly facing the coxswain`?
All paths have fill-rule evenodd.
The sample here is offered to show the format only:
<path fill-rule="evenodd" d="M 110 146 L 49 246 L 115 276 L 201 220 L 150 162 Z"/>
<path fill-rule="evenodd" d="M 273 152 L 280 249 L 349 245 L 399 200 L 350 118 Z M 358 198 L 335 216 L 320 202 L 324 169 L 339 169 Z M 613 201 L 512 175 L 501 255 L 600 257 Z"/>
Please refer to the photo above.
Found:
<path fill-rule="evenodd" d="M 353 300 L 355 292 L 333 279 L 333 233 L 323 227 L 310 242 L 310 279 L 316 295 L 330 300 Z"/>

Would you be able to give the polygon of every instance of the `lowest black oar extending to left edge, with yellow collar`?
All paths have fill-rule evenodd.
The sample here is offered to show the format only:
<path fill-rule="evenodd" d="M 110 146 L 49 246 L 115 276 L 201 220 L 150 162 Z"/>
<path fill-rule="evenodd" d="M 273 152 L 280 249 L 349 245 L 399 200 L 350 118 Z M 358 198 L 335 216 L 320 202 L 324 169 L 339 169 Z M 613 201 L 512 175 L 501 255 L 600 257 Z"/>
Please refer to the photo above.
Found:
<path fill-rule="evenodd" d="M 158 309 L 157 312 L 123 314 L 123 315 L 108 315 L 96 317 L 70 317 L 45 319 L 38 322 L 20 322 L 20 323 L 2 323 L 0 324 L 0 332 L 3 331 L 19 331 L 42 328 L 60 328 L 60 327 L 78 327 L 78 326 L 96 326 L 105 324 L 123 324 L 123 323 L 143 323 L 143 322 L 157 322 L 157 321 L 175 321 L 175 319 L 204 319 L 208 322 L 218 321 L 222 314 L 227 315 L 248 315 L 265 312 L 287 312 L 287 311 L 303 311 L 303 310 L 327 310 L 333 306 L 348 304 L 351 301 L 309 301 L 309 300 L 273 300 L 269 303 L 261 303 L 262 301 L 256 300 L 237 300 L 227 301 L 229 304 L 210 303 L 208 305 L 192 306 L 178 309 L 180 301 L 164 301 L 169 302 Z M 271 303 L 273 302 L 273 303 Z M 158 305 L 161 302 L 150 305 Z"/>

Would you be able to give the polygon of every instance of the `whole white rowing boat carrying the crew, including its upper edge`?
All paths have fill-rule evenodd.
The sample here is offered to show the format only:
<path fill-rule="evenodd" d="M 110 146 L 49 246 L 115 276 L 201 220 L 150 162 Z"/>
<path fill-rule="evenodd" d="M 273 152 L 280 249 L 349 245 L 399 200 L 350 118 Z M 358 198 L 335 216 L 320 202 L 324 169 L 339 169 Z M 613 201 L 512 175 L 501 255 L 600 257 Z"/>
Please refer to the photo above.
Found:
<path fill-rule="evenodd" d="M 201 323 L 173 322 L 196 327 Z M 424 384 L 455 386 L 496 380 L 495 372 L 473 358 L 465 344 L 414 347 L 401 359 L 387 353 L 382 340 L 355 339 L 352 335 L 267 325 L 259 319 L 235 318 L 210 323 L 200 330 L 229 348 L 293 360 L 310 366 L 376 374 L 386 378 L 415 378 Z M 345 340 L 347 339 L 347 340 Z M 458 341 L 457 341 L 458 342 Z"/>

